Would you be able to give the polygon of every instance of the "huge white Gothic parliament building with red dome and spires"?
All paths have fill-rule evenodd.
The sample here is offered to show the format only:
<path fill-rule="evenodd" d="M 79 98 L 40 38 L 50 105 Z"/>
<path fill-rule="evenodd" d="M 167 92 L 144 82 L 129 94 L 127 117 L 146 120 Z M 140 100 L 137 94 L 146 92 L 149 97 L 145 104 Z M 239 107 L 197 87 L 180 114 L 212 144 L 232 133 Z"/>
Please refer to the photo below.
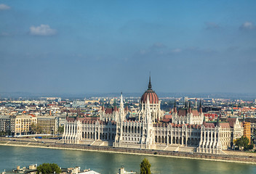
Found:
<path fill-rule="evenodd" d="M 230 117 L 226 122 L 218 118 L 207 123 L 201 102 L 199 108 L 192 108 L 187 101 L 183 108 L 177 109 L 175 105 L 172 121 L 164 123 L 160 102 L 149 78 L 135 120 L 127 120 L 128 107 L 124 107 L 121 94 L 119 108 L 103 106 L 100 120 L 67 117 L 63 143 L 221 154 L 243 135 L 244 128 L 238 118 Z"/>

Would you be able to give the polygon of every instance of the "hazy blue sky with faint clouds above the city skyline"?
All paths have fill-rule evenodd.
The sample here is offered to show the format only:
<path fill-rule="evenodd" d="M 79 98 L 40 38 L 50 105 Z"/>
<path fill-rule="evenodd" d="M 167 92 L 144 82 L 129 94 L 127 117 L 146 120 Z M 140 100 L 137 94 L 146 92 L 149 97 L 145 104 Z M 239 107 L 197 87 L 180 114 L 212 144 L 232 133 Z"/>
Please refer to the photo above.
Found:
<path fill-rule="evenodd" d="M 255 7 L 0 0 L 0 91 L 254 93 Z"/>

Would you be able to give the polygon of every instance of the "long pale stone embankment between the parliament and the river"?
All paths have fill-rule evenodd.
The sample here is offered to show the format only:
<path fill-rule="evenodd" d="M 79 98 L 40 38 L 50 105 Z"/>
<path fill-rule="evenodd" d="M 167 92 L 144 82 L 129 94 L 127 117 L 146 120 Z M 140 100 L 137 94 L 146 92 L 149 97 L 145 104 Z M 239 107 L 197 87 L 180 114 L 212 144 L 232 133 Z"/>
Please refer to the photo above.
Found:
<path fill-rule="evenodd" d="M 79 151 L 91 151 L 91 152 L 107 152 L 107 153 L 119 153 L 119 154 L 136 154 L 136 155 L 148 155 L 158 157 L 174 157 L 184 159 L 201 159 L 208 161 L 219 162 L 238 162 L 256 165 L 256 157 L 249 156 L 249 153 L 242 154 L 202 154 L 202 153 L 185 153 L 185 152 L 168 152 L 161 150 L 148 150 L 148 149 L 129 149 L 129 148 L 115 148 L 111 146 L 87 146 L 81 144 L 60 144 L 55 141 L 20 141 L 11 139 L 1 139 L 1 146 L 24 146 L 34 148 L 46 148 L 46 149 L 65 149 L 65 150 L 79 150 Z"/>

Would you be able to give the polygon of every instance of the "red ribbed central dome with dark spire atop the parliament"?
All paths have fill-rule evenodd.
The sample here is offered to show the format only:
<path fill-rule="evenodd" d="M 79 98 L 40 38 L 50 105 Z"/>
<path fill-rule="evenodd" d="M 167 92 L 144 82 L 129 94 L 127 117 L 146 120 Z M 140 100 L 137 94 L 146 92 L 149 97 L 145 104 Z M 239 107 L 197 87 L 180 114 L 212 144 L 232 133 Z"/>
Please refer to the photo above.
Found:
<path fill-rule="evenodd" d="M 143 102 L 145 104 L 147 102 L 147 99 L 149 100 L 150 104 L 159 103 L 159 97 L 156 95 L 155 91 L 152 90 L 151 77 L 149 77 L 148 90 L 145 91 L 143 96 L 141 96 L 140 102 Z"/>

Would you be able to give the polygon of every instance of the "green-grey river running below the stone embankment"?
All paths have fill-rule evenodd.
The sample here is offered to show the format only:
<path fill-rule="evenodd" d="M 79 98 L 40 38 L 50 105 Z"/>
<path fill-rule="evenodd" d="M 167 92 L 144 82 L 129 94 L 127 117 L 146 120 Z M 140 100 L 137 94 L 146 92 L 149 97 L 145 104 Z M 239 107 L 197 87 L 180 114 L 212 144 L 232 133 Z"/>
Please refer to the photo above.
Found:
<path fill-rule="evenodd" d="M 256 173 L 256 165 L 233 162 L 17 146 L 0 146 L 0 172 L 17 165 L 24 167 L 44 162 L 55 162 L 60 167 L 90 168 L 102 174 L 116 174 L 121 166 L 127 171 L 139 172 L 140 162 L 145 157 L 151 163 L 152 173 Z"/>

